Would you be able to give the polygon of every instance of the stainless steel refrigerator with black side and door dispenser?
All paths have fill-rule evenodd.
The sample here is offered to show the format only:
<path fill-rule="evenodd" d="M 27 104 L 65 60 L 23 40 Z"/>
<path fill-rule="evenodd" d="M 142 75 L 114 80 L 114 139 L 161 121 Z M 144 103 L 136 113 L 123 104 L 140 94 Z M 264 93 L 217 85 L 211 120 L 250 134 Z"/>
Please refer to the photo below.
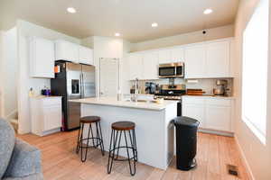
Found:
<path fill-rule="evenodd" d="M 62 130 L 78 129 L 80 103 L 69 100 L 96 96 L 95 67 L 62 60 L 55 66 L 58 72 L 51 79 L 51 94 L 62 96 Z"/>

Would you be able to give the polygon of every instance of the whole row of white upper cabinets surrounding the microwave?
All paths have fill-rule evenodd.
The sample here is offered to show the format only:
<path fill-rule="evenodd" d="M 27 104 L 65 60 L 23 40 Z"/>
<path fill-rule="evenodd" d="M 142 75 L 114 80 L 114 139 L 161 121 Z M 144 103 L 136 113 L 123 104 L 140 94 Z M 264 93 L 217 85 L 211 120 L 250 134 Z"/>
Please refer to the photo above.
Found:
<path fill-rule="evenodd" d="M 132 62 L 132 71 L 138 68 L 138 72 L 130 72 L 132 79 L 143 73 L 141 78 L 152 79 L 157 70 L 155 60 L 158 57 L 159 64 L 173 62 L 184 62 L 185 78 L 226 78 L 234 76 L 235 53 L 234 40 L 222 39 L 205 41 L 195 44 L 182 45 L 172 49 L 157 49 L 133 53 L 131 56 L 142 56 L 144 60 L 135 60 L 139 65 Z M 157 56 L 157 57 L 156 57 Z M 142 58 L 142 57 L 141 57 Z M 145 59 L 153 59 L 152 62 L 145 62 Z M 153 63 L 153 64 L 152 64 Z M 138 67 L 135 67 L 138 66 Z M 143 66 L 142 68 L 139 68 Z M 150 78 L 149 78 L 150 77 Z"/>

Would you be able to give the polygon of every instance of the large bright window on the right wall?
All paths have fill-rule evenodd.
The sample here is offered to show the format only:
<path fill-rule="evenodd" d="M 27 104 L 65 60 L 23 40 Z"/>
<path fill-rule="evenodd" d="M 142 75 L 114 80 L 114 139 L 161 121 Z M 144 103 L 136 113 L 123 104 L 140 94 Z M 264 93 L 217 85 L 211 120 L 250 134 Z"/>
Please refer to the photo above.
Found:
<path fill-rule="evenodd" d="M 268 0 L 260 0 L 243 33 L 242 119 L 266 143 Z"/>

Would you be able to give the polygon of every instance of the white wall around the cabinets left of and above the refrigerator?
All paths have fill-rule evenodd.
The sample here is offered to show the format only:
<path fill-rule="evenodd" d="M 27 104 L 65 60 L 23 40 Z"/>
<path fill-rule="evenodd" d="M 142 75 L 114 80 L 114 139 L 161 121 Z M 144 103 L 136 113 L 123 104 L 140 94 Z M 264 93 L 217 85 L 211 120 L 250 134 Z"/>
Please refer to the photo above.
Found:
<path fill-rule="evenodd" d="M 32 36 L 42 37 L 48 40 L 69 40 L 80 43 L 79 39 L 70 37 L 58 31 L 43 28 L 33 23 L 17 21 L 18 29 L 18 60 L 19 60 L 19 84 L 18 84 L 18 112 L 19 112 L 19 133 L 27 133 L 31 128 L 29 97 L 31 87 L 36 94 L 40 94 L 44 85 L 50 87 L 50 79 L 32 78 L 29 75 L 29 41 Z"/>

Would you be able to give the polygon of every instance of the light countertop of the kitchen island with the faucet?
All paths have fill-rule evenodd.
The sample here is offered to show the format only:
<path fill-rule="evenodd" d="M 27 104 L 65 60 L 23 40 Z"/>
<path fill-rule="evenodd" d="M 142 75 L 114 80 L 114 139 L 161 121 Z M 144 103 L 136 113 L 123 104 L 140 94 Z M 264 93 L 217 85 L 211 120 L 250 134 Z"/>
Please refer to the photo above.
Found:
<path fill-rule="evenodd" d="M 135 109 L 145 109 L 145 110 L 164 110 L 168 105 L 177 103 L 177 101 L 166 101 L 164 103 L 150 103 L 150 102 L 130 102 L 130 101 L 117 101 L 117 98 L 114 97 L 95 97 L 95 98 L 86 98 L 86 99 L 77 99 L 70 100 L 74 103 L 89 103 L 89 104 L 98 104 L 98 105 L 109 105 L 117 107 L 126 107 L 126 108 L 135 108 Z"/>

